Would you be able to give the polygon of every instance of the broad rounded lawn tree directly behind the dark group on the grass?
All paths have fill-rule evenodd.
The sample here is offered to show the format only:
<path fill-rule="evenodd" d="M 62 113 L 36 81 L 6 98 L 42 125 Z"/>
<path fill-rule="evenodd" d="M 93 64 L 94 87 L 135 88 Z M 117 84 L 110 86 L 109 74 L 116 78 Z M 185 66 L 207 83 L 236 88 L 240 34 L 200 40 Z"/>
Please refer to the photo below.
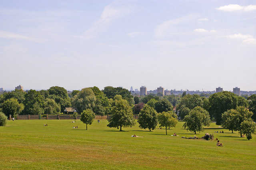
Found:
<path fill-rule="evenodd" d="M 184 118 L 185 123 L 183 124 L 184 128 L 187 128 L 187 131 L 190 130 L 191 132 L 201 132 L 204 130 L 204 126 L 210 126 L 210 115 L 208 111 L 203 109 L 202 107 L 195 107 Z"/>

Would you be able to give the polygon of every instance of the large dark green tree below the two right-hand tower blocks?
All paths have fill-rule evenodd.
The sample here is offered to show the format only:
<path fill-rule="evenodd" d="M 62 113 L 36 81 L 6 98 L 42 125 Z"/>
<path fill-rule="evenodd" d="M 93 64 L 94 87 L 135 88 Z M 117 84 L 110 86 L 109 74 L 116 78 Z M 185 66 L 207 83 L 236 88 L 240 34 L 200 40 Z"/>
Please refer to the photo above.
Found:
<path fill-rule="evenodd" d="M 215 118 L 216 125 L 221 125 L 222 113 L 229 109 L 236 109 L 238 96 L 228 91 L 214 93 L 209 97 L 209 103 L 210 116 Z"/>

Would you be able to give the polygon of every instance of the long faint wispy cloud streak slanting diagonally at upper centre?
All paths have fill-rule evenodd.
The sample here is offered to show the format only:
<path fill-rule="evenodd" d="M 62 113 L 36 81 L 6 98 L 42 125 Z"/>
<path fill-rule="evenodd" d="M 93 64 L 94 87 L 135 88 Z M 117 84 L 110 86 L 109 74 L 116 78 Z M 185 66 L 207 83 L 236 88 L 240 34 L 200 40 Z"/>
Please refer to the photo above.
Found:
<path fill-rule="evenodd" d="M 83 38 L 91 39 L 98 36 L 98 34 L 100 34 L 101 32 L 106 31 L 110 22 L 130 13 L 130 6 L 127 5 L 116 5 L 116 3 L 112 3 L 106 6 L 100 18 L 96 20 L 96 22 L 94 22 L 91 28 L 89 28 L 82 34 Z"/>

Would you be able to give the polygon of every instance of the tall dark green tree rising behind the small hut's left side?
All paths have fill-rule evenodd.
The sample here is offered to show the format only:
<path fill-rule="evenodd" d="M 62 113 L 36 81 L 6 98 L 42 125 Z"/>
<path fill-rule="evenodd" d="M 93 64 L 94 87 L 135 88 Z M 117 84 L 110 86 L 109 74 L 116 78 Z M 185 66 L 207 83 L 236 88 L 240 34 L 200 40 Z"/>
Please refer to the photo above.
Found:
<path fill-rule="evenodd" d="M 68 91 L 64 87 L 53 86 L 48 89 L 48 98 L 54 99 L 57 104 L 60 104 L 61 111 L 64 111 L 65 107 L 70 107 L 70 97 L 68 97 Z"/>

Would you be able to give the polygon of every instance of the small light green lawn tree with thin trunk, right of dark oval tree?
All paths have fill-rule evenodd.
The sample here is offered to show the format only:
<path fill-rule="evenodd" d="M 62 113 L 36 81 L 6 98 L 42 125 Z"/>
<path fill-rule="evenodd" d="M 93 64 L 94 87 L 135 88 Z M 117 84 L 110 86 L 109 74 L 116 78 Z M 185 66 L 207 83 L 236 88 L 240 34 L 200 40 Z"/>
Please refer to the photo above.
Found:
<path fill-rule="evenodd" d="M 157 120 L 160 124 L 160 127 L 165 127 L 165 132 L 167 135 L 167 127 L 176 127 L 178 120 L 177 118 L 172 117 L 173 115 L 168 112 L 158 113 Z"/>

